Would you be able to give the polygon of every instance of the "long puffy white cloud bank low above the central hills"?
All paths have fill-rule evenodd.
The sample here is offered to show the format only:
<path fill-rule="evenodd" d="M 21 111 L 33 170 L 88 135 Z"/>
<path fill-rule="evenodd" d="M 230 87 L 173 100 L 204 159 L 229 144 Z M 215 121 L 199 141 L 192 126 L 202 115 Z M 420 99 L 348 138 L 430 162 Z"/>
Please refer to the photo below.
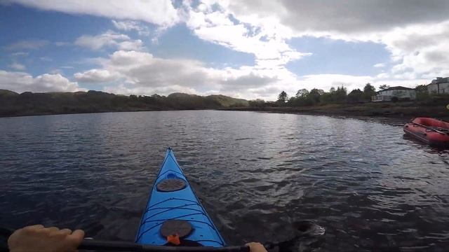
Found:
<path fill-rule="evenodd" d="M 245 99 L 276 99 L 279 92 L 293 95 L 297 90 L 344 86 L 350 92 L 363 88 L 366 83 L 415 87 L 422 80 L 395 80 L 387 74 L 349 76 L 341 74 L 315 74 L 298 77 L 286 69 L 261 69 L 257 66 L 214 69 L 202 62 L 189 59 L 162 59 L 148 52 L 116 51 L 102 59 L 101 69 L 75 73 L 83 83 L 107 83 L 106 92 L 116 94 L 225 94 Z M 175 69 L 175 71 L 174 71 Z"/>

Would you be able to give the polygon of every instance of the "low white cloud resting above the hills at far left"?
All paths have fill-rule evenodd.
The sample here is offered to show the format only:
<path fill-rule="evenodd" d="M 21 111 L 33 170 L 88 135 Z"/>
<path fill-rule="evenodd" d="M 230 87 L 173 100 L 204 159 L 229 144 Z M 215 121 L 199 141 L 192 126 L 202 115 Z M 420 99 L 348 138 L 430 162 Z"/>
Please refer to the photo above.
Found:
<path fill-rule="evenodd" d="M 76 92 L 83 89 L 78 83 L 60 74 L 42 74 L 33 77 L 29 73 L 0 70 L 0 88 L 14 92 Z"/>

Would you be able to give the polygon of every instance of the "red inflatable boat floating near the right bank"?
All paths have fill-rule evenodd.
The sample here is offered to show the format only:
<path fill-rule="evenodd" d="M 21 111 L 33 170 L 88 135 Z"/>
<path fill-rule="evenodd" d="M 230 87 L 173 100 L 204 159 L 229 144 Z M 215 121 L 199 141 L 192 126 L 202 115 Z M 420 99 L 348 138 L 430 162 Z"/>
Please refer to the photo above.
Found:
<path fill-rule="evenodd" d="M 434 118 L 415 118 L 404 125 L 406 134 L 433 146 L 449 146 L 449 123 Z"/>

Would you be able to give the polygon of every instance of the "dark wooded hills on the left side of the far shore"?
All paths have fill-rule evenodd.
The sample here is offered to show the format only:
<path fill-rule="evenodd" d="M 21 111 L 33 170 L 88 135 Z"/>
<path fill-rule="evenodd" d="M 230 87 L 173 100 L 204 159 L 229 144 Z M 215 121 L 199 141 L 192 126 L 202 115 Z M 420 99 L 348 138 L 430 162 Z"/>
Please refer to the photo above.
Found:
<path fill-rule="evenodd" d="M 186 109 L 226 109 L 248 106 L 245 99 L 224 95 L 206 97 L 173 93 L 167 97 L 120 95 L 107 92 L 23 92 L 0 90 L 0 116 L 30 116 L 58 113 L 93 113 L 109 111 L 155 111 Z"/>

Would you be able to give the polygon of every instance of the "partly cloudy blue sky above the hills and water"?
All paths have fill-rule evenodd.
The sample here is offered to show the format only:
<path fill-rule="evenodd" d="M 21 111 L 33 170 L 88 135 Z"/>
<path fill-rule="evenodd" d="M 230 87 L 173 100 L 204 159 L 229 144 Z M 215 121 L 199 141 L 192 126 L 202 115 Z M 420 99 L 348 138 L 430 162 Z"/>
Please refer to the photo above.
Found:
<path fill-rule="evenodd" d="M 0 89 L 225 94 L 449 76 L 447 0 L 0 0 Z"/>

